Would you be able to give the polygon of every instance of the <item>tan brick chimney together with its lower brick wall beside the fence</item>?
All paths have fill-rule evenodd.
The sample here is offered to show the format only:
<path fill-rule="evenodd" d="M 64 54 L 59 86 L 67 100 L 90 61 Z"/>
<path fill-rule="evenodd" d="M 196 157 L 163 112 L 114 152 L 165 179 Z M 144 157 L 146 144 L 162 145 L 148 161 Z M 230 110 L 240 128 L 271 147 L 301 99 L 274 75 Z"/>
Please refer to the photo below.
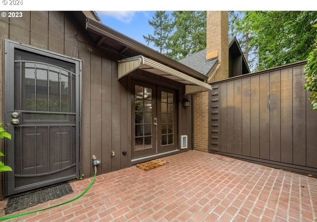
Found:
<path fill-rule="evenodd" d="M 207 12 L 206 59 L 218 57 L 218 68 L 210 73 L 208 82 L 226 79 L 229 75 L 229 16 L 228 11 Z M 194 96 L 194 147 L 208 152 L 209 144 L 209 93 Z"/>

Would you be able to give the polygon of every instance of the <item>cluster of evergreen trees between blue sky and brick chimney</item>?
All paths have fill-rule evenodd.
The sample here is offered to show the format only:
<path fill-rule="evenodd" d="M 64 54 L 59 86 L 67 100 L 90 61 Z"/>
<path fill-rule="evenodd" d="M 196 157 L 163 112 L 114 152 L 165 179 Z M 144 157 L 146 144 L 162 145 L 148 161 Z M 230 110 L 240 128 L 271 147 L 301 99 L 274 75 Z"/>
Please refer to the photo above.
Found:
<path fill-rule="evenodd" d="M 145 41 L 176 60 L 206 48 L 206 11 L 157 11 L 149 24 L 154 35 Z"/>

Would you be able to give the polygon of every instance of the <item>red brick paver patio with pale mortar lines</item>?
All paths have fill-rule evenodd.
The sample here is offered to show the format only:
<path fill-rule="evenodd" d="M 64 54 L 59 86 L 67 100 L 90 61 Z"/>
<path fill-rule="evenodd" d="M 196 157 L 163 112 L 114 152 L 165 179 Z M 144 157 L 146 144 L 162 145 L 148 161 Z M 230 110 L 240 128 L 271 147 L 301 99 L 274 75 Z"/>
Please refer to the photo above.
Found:
<path fill-rule="evenodd" d="M 100 175 L 80 200 L 14 221 L 317 221 L 315 178 L 199 151 L 162 159 L 169 164 L 150 171 Z M 73 194 L 27 211 L 71 199 L 90 181 L 71 182 Z"/>

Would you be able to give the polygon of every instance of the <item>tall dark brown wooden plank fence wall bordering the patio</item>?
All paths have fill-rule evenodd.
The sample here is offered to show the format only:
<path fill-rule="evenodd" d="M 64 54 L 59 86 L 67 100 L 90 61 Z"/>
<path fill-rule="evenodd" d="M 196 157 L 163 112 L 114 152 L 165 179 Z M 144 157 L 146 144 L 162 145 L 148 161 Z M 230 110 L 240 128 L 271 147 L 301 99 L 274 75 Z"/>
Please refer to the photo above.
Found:
<path fill-rule="evenodd" d="M 213 83 L 219 102 L 211 96 L 211 116 L 217 112 L 220 124 L 210 151 L 317 175 L 317 112 L 303 89 L 304 65 Z"/>

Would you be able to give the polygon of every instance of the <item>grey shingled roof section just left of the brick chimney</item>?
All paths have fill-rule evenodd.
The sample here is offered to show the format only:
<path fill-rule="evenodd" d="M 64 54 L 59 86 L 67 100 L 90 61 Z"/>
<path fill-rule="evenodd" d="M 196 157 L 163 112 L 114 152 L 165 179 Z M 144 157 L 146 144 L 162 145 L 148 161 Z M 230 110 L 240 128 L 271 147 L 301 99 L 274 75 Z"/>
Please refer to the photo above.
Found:
<path fill-rule="evenodd" d="M 217 58 L 206 60 L 206 49 L 204 49 L 192 54 L 191 56 L 180 59 L 179 62 L 204 75 L 207 75 L 217 60 Z"/>

